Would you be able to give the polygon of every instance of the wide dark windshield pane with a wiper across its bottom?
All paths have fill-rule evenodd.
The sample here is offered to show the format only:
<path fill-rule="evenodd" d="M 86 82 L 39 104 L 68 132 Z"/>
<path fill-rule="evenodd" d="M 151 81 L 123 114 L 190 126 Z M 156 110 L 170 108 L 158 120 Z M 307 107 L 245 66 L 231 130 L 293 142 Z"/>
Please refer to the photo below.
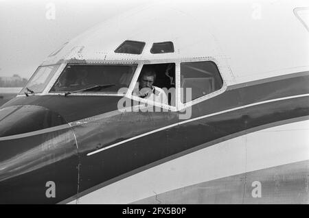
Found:
<path fill-rule="evenodd" d="M 117 93 L 128 88 L 137 65 L 72 65 L 61 73 L 50 92 Z M 98 86 L 97 88 L 91 88 Z"/>

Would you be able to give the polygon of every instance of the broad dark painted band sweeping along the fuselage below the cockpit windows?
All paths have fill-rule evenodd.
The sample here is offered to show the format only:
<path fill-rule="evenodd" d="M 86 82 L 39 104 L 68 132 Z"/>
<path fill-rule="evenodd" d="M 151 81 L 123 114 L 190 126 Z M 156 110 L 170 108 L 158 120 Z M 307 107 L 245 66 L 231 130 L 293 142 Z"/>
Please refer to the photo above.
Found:
<path fill-rule="evenodd" d="M 22 203 L 26 199 L 26 203 L 69 202 L 76 195 L 86 195 L 205 146 L 216 145 L 257 128 L 308 119 L 308 84 L 309 72 L 303 72 L 230 86 L 225 93 L 192 106 L 192 117 L 187 122 L 179 119 L 179 112 L 119 112 L 117 101 L 121 97 L 18 97 L 1 108 L 41 106 L 60 114 L 71 126 L 54 132 L 46 128 L 46 132 L 38 136 L 30 132 L 22 138 L 0 138 L 0 164 L 6 164 L 0 171 L 0 202 Z M 181 125 L 175 125 L 177 123 Z M 161 131 L 156 131 L 160 128 Z M 25 128 L 19 134 L 27 131 Z M 63 131 L 69 132 L 70 136 L 62 137 Z M 56 141 L 51 139 L 53 135 L 58 138 Z M 41 138 L 36 141 L 38 137 Z M 136 138 L 126 141 L 133 137 Z M 108 146 L 111 147 L 87 156 Z M 42 147 L 47 149 L 42 151 Z M 8 153 L 3 154 L 3 151 Z M 38 158 L 42 152 L 45 157 L 53 156 Z M 29 158 L 26 154 L 32 155 Z M 28 159 L 21 158 L 26 156 Z M 59 187 L 55 198 L 45 196 L 47 180 L 54 181 Z M 60 188 L 67 187 L 65 184 L 71 189 Z"/>

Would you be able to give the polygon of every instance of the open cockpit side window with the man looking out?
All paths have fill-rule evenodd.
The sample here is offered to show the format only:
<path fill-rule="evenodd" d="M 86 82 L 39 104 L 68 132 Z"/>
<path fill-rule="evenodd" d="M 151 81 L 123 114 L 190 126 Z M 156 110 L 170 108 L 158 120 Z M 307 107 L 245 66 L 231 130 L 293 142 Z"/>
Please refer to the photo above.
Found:
<path fill-rule="evenodd" d="M 175 106 L 175 64 L 144 64 L 133 95 Z"/>

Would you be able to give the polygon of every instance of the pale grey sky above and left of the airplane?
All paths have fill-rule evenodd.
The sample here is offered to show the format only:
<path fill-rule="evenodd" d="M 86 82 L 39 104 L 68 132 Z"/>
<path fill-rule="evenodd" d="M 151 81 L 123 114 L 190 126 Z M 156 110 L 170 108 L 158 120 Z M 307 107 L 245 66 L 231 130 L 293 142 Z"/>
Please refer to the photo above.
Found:
<path fill-rule="evenodd" d="M 152 0 L 0 0 L 0 76 L 29 78 L 61 45 Z"/>

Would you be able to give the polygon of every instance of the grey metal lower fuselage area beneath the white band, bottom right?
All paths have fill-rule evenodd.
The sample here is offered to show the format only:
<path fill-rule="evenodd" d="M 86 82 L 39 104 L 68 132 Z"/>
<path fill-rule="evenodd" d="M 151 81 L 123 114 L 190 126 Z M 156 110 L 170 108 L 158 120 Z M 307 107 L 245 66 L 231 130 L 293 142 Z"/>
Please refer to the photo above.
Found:
<path fill-rule="evenodd" d="M 308 160 L 293 162 L 185 186 L 131 204 L 308 204 L 308 168 Z"/>

